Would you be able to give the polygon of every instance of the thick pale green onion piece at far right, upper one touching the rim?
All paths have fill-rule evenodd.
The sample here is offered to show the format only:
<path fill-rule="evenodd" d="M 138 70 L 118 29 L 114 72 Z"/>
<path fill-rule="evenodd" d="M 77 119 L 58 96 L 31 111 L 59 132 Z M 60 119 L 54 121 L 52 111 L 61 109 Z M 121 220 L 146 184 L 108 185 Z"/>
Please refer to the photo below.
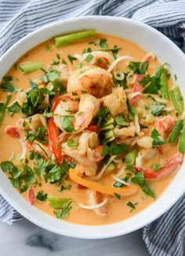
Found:
<path fill-rule="evenodd" d="M 169 91 L 172 98 L 173 105 L 175 106 L 177 113 L 183 113 L 183 96 L 180 92 L 180 87 L 176 86 L 174 89 Z"/>

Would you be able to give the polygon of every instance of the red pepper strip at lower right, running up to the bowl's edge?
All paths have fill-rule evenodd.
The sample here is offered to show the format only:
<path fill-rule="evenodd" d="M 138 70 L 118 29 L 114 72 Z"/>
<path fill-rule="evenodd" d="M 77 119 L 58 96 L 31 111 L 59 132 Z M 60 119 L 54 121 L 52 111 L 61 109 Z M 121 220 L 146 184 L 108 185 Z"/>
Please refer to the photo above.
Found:
<path fill-rule="evenodd" d="M 143 172 L 143 176 L 147 179 L 154 179 L 154 180 L 160 180 L 162 178 L 165 178 L 166 176 L 169 176 L 169 174 L 176 171 L 177 167 L 179 167 L 183 162 L 183 154 L 180 152 L 175 154 L 174 157 L 169 159 L 161 167 L 161 169 L 158 170 L 158 172 L 155 172 L 154 169 L 142 169 L 142 168 L 136 168 L 136 172 Z"/>

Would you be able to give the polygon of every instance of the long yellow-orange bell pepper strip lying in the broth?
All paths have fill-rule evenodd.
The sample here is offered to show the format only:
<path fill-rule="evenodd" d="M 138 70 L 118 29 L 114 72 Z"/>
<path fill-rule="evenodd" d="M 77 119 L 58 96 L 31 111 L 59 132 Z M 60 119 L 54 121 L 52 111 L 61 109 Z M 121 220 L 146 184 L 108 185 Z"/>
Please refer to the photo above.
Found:
<path fill-rule="evenodd" d="M 107 195 L 114 195 L 116 193 L 118 195 L 128 196 L 136 194 L 136 191 L 138 189 L 138 187 L 134 184 L 125 187 L 108 187 L 106 185 L 99 184 L 94 180 L 87 180 L 85 178 L 78 176 L 75 172 L 75 169 L 69 169 L 69 177 L 72 181 L 74 181 L 77 184 L 80 184 L 84 187 L 88 187 L 90 189 L 93 189 L 94 191 L 99 191 L 100 193 Z"/>

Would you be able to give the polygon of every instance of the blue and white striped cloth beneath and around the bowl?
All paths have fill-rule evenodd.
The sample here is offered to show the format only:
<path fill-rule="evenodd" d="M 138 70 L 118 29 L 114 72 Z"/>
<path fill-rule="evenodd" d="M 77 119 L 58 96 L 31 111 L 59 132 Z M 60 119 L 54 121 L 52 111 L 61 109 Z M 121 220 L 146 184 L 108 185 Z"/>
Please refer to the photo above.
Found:
<path fill-rule="evenodd" d="M 185 52 L 185 0 L 0 0 L 0 56 L 37 28 L 56 20 L 110 15 L 140 20 L 167 35 Z M 0 195 L 0 221 L 21 216 Z M 183 256 L 185 197 L 157 221 L 143 228 L 143 240 L 154 256 Z"/>

